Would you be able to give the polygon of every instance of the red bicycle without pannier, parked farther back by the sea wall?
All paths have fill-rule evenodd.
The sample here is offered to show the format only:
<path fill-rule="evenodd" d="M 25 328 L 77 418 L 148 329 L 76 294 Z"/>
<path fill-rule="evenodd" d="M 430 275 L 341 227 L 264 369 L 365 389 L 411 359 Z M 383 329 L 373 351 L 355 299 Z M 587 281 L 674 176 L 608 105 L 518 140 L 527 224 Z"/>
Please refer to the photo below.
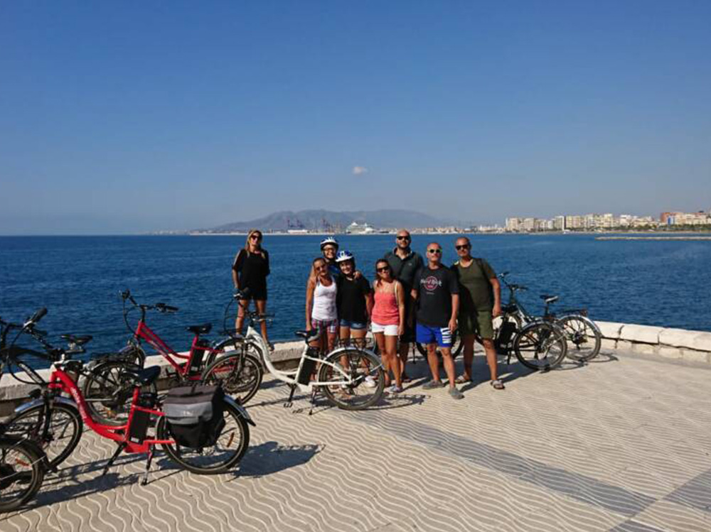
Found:
<path fill-rule="evenodd" d="M 151 328 L 146 325 L 146 311 L 155 310 L 159 313 L 176 313 L 177 307 L 165 303 L 142 305 L 137 303 L 130 291 L 121 293 L 124 303 L 124 322 L 132 333 L 128 345 L 117 355 L 109 355 L 90 368 L 90 375 L 84 381 L 83 393 L 89 399 L 88 405 L 92 416 L 100 418 L 109 425 L 125 423 L 128 415 L 129 399 L 132 396 L 134 381 L 133 372 L 142 368 L 146 362 L 146 352 L 142 341 L 158 352 L 173 369 L 173 379 L 170 386 L 176 384 L 194 384 L 198 381 L 210 381 L 212 384 L 222 384 L 230 395 L 238 395 L 242 390 L 253 388 L 253 381 L 262 380 L 262 365 L 257 357 L 245 357 L 243 367 L 238 374 L 239 379 L 223 379 L 224 371 L 215 370 L 215 362 L 220 355 L 233 352 L 242 345 L 242 337 L 235 332 L 225 331 L 226 337 L 210 343 L 201 335 L 207 335 L 212 330 L 210 323 L 190 325 L 186 330 L 193 333 L 193 341 L 187 354 L 178 353 Z M 130 303 L 130 305 L 127 305 Z M 132 310 L 139 310 L 138 325 L 132 327 L 129 315 Z M 152 385 L 151 385 L 152 386 Z M 152 389 L 151 391 L 155 391 Z M 241 399 L 241 397 L 240 397 Z"/>

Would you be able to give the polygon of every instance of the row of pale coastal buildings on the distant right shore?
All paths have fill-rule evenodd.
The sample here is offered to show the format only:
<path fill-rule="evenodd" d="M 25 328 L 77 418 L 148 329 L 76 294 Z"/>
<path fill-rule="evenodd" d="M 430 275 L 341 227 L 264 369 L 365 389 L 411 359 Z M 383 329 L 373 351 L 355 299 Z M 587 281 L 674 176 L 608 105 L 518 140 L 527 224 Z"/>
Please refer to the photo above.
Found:
<path fill-rule="evenodd" d="M 657 229 L 659 227 L 711 227 L 709 212 L 663 212 L 659 219 L 651 216 L 611 213 L 558 215 L 551 219 L 513 217 L 506 219 L 506 232 L 605 231 L 610 229 Z"/>

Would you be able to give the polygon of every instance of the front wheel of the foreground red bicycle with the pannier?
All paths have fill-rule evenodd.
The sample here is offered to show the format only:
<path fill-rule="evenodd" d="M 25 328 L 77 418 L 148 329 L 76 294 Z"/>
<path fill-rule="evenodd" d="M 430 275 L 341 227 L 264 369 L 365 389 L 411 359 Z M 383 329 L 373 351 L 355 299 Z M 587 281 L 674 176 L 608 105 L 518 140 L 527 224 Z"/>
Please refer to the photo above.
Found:
<path fill-rule="evenodd" d="M 5 423 L 2 435 L 30 440 L 47 455 L 50 467 L 57 467 L 72 454 L 82 437 L 84 425 L 77 408 L 65 403 L 53 403 L 49 416 L 45 432 L 45 406 L 28 408 Z"/>

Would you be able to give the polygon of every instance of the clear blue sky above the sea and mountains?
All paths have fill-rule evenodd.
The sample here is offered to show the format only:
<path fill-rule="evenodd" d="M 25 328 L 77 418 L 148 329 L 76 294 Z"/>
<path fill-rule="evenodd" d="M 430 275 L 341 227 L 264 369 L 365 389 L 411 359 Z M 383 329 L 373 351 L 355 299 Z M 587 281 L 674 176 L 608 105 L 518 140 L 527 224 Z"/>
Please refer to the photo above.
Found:
<path fill-rule="evenodd" d="M 711 207 L 711 1 L 5 1 L 0 234 Z"/>

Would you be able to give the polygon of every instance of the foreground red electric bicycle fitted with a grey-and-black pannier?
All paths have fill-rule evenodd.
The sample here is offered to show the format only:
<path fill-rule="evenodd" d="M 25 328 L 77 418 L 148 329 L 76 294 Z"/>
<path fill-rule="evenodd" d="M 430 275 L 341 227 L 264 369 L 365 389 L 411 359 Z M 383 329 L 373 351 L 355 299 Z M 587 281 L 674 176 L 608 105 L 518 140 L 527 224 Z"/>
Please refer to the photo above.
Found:
<path fill-rule="evenodd" d="M 79 443 L 83 420 L 88 428 L 102 438 L 117 443 L 117 450 L 107 462 L 104 472 L 107 472 L 122 452 L 147 455 L 144 484 L 147 481 L 156 445 L 161 445 L 166 454 L 181 467 L 199 474 L 225 472 L 242 459 L 250 441 L 250 430 L 247 424 L 255 424 L 245 408 L 229 396 L 220 396 L 219 410 L 223 418 L 218 419 L 218 423 L 213 425 L 217 427 L 214 433 L 209 434 L 208 438 L 203 438 L 196 445 L 181 444 L 173 435 L 173 428 L 166 420 L 166 414 L 157 394 L 141 391 L 141 388 L 154 385 L 161 372 L 158 366 L 146 369 L 124 368 L 127 377 L 134 383 L 127 421 L 121 425 L 100 423 L 100 420 L 92 416 L 90 403 L 85 400 L 84 394 L 76 383 L 75 375 L 83 373 L 83 363 L 71 360 L 65 350 L 51 347 L 41 338 L 44 333 L 34 329 L 34 324 L 44 314 L 46 309 L 38 311 L 23 325 L 11 326 L 19 328 L 20 332 L 9 348 L 4 349 L 3 366 L 23 369 L 33 383 L 40 386 L 40 390 L 31 393 L 32 401 L 16 409 L 14 416 L 4 425 L 4 434 L 21 436 L 33 441 L 42 449 L 53 447 L 51 452 L 53 460 L 50 463 L 52 467 L 56 467 Z M 25 348 L 13 349 L 15 341 L 23 333 L 41 339 L 45 352 Z M 19 360 L 18 353 L 28 353 L 50 360 L 52 373 L 49 382 Z M 11 374 L 21 381 L 14 373 Z M 200 428 L 203 431 L 203 425 L 200 425 Z M 153 435 L 149 435 L 149 430 L 153 430 Z"/>

